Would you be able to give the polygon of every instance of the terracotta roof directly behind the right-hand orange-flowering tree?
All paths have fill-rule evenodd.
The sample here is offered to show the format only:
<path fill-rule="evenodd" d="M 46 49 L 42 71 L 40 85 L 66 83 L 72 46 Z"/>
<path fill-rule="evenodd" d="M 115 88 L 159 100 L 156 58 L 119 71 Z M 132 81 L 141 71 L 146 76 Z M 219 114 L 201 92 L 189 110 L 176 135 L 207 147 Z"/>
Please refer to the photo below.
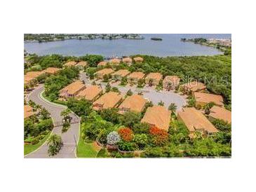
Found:
<path fill-rule="evenodd" d="M 163 106 L 154 106 L 147 108 L 142 123 L 149 123 L 156 128 L 168 131 L 170 124 L 170 111 Z"/>

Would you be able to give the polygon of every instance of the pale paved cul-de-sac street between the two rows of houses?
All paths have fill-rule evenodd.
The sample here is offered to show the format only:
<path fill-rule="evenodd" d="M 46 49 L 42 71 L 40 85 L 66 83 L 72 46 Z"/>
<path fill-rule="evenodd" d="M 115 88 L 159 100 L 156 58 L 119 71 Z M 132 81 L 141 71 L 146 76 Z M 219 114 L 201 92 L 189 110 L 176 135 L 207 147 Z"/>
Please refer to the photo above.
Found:
<path fill-rule="evenodd" d="M 91 84 L 92 81 L 86 76 L 84 72 L 80 73 L 81 81 L 85 81 L 86 84 Z M 94 81 L 94 80 L 93 80 Z M 107 83 L 103 83 L 100 81 L 95 81 L 97 84 L 100 83 L 102 88 L 105 88 Z M 173 90 L 167 91 L 162 90 L 160 92 L 156 91 L 153 87 L 144 87 L 142 89 L 136 88 L 136 85 L 130 87 L 126 85 L 125 87 L 119 85 L 119 81 L 116 83 L 112 83 L 112 87 L 116 87 L 120 90 L 122 95 L 126 95 L 126 92 L 130 89 L 133 93 L 143 92 L 143 97 L 151 101 L 153 104 L 158 104 L 159 102 L 163 101 L 164 106 L 168 109 L 171 103 L 175 103 L 177 105 L 177 111 L 182 109 L 182 106 L 186 105 L 186 95 L 179 95 L 175 93 Z"/>

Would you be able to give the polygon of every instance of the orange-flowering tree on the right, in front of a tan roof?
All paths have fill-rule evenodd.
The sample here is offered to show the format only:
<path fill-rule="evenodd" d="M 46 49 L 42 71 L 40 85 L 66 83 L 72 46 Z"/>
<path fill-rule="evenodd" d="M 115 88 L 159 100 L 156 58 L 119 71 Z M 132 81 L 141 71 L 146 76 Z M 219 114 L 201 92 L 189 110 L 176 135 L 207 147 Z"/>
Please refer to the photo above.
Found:
<path fill-rule="evenodd" d="M 168 132 L 159 128 L 153 127 L 149 129 L 152 135 L 152 142 L 156 145 L 163 145 L 168 142 Z"/>

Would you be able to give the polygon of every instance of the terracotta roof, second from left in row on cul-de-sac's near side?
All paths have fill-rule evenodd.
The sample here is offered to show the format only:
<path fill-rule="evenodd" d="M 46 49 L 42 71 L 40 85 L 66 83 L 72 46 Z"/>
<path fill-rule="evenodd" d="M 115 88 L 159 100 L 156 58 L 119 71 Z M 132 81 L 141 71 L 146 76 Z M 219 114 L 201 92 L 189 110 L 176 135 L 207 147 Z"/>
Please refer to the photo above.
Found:
<path fill-rule="evenodd" d="M 102 92 L 102 89 L 100 87 L 98 87 L 97 85 L 90 85 L 88 87 L 86 87 L 86 89 L 81 90 L 76 97 L 77 98 L 84 98 L 86 100 L 93 100 L 95 97 L 97 97 L 97 95 L 100 94 L 100 92 Z"/>

